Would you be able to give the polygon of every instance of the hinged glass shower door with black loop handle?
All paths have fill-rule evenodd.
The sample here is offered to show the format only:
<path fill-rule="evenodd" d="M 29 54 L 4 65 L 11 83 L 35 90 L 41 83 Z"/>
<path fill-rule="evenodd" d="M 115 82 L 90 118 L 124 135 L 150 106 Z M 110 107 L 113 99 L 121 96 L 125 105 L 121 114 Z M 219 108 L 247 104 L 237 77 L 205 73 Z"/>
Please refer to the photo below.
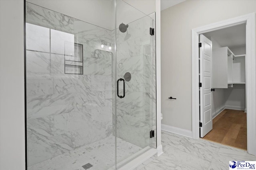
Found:
<path fill-rule="evenodd" d="M 116 0 L 117 168 L 156 148 L 154 31 L 150 34 L 150 28 L 155 28 L 154 19 L 155 13 L 146 15 Z"/>

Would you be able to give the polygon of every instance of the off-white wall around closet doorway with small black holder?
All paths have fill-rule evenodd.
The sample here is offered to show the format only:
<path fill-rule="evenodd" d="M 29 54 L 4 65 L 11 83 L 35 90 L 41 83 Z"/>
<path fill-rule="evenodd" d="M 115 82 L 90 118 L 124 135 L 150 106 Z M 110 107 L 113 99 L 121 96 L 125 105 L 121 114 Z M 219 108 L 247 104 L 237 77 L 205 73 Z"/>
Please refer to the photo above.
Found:
<path fill-rule="evenodd" d="M 255 0 L 188 0 L 161 12 L 163 124 L 192 130 L 191 29 L 252 12 Z"/>

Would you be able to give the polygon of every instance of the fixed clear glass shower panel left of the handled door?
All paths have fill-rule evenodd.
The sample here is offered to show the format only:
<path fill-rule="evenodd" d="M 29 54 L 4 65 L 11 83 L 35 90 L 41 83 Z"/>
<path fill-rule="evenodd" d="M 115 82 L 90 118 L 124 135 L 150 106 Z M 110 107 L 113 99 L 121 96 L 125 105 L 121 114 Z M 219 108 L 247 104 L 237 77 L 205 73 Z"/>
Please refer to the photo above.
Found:
<path fill-rule="evenodd" d="M 115 166 L 113 9 L 114 1 L 26 2 L 28 170 Z"/>

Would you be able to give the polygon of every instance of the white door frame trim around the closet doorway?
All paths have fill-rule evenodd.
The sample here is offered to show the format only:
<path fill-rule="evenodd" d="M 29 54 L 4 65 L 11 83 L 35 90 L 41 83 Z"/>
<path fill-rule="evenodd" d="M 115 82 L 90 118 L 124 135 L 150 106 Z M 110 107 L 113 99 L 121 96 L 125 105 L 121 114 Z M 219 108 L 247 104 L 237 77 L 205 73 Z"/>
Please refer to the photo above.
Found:
<path fill-rule="evenodd" d="M 199 34 L 246 23 L 246 108 L 247 108 L 247 151 L 256 155 L 256 60 L 255 60 L 255 13 L 211 23 L 192 29 L 192 137 L 199 133 Z"/>

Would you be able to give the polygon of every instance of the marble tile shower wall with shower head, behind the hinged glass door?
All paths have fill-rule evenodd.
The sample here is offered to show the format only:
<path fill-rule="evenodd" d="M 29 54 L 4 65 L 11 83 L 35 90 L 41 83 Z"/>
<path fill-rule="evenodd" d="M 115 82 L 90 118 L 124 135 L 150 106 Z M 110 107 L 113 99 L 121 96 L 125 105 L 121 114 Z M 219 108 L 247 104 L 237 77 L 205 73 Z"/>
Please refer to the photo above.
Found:
<path fill-rule="evenodd" d="M 129 23 L 125 33 L 117 29 L 117 77 L 131 73 L 125 98 L 117 98 L 117 137 L 142 148 L 156 147 L 156 60 L 155 36 L 149 34 L 154 14 Z M 156 132 L 156 131 L 155 131 Z"/>

